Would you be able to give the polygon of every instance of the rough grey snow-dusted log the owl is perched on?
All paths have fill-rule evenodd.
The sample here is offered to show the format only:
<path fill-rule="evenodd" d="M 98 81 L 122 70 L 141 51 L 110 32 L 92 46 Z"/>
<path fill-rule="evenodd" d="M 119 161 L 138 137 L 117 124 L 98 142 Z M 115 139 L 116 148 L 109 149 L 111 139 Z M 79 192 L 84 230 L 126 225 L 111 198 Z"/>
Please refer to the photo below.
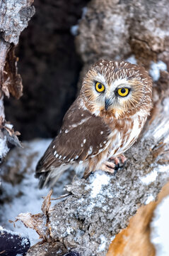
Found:
<path fill-rule="evenodd" d="M 44 248 L 57 241 L 67 251 L 74 249 L 83 256 L 106 255 L 112 237 L 127 226 L 139 206 L 149 196 L 156 198 L 169 178 L 168 73 L 161 73 L 161 80 L 163 83 L 158 81 L 153 90 L 155 107 L 151 119 L 139 142 L 127 151 L 124 169 L 116 176 L 96 172 L 87 181 L 76 179 L 66 188 L 71 195 L 54 208 L 49 207 L 49 195 L 39 215 L 18 215 L 27 226 L 33 222 L 37 228 L 39 223 L 46 223 L 38 228 L 46 242 L 31 248 L 28 256 L 35 255 L 37 248 L 39 255 L 47 255 Z M 95 183 L 98 186 L 105 176 L 107 182 L 95 192 Z"/>

